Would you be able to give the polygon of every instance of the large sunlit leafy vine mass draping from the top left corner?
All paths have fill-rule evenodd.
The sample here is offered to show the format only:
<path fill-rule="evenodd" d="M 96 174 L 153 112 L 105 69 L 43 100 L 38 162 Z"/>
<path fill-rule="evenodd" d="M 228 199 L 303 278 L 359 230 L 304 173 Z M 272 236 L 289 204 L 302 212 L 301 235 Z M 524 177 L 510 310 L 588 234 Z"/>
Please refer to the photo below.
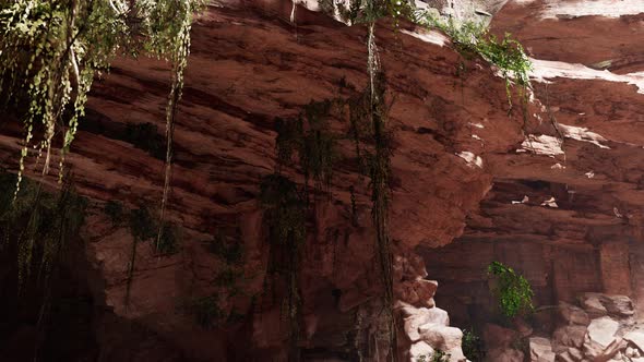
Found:
<path fill-rule="evenodd" d="M 160 217 L 165 216 L 171 173 L 177 104 L 190 48 L 192 14 L 204 0 L 2 0 L 0 1 L 0 97 L 27 104 L 20 156 L 17 197 L 29 147 L 44 154 L 43 174 L 62 135 L 59 178 L 84 116 L 94 76 L 117 56 L 143 53 L 171 62 L 166 109 L 166 170 Z M 71 112 L 65 112 L 71 110 Z M 64 118 L 65 113 L 71 117 Z M 37 141 L 37 134 L 43 134 Z M 157 243 L 162 239 L 159 224 Z"/>

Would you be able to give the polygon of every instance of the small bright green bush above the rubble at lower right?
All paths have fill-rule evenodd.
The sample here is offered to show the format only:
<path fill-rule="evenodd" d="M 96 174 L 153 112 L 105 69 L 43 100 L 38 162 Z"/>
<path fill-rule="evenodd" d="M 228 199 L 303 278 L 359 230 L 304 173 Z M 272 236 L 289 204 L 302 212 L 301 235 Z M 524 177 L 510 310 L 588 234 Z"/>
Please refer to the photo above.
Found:
<path fill-rule="evenodd" d="M 488 266 L 491 292 L 497 299 L 500 312 L 509 318 L 529 314 L 534 311 L 534 292 L 529 282 L 511 267 L 492 262 Z"/>

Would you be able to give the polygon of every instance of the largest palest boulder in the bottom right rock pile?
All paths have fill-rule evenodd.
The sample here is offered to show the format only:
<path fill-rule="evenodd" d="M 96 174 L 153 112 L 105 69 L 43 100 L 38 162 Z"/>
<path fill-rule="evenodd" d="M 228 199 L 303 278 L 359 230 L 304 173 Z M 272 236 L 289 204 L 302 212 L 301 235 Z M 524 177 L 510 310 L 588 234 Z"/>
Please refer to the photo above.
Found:
<path fill-rule="evenodd" d="M 584 355 L 594 361 L 608 361 L 625 349 L 627 342 L 616 335 L 618 329 L 619 323 L 610 317 L 593 319 L 584 337 Z"/>

